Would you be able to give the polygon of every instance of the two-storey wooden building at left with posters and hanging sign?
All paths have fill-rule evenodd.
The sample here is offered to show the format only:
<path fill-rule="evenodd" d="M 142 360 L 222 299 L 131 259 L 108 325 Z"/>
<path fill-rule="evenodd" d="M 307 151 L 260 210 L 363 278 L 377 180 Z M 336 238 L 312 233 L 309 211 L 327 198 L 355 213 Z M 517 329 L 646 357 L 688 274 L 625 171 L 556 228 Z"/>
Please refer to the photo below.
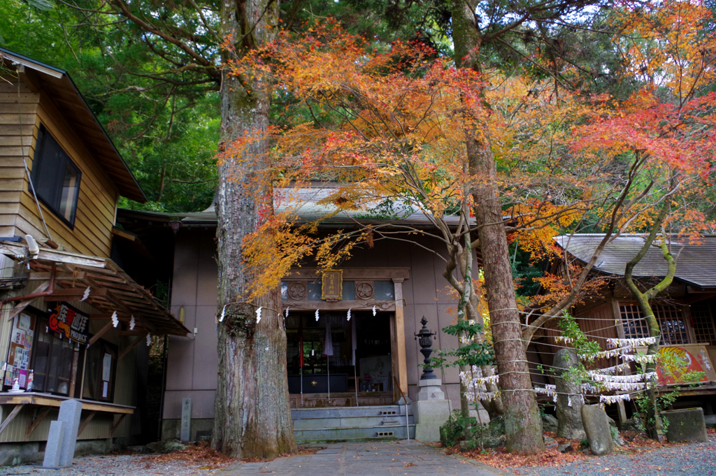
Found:
<path fill-rule="evenodd" d="M 0 62 L 10 71 L 0 81 L 6 465 L 42 459 L 49 422 L 68 398 L 82 401 L 79 452 L 140 434 L 147 341 L 187 330 L 144 287 L 150 266 L 135 272 L 145 258 L 115 216 L 120 195 L 145 197 L 72 79 L 2 48 Z"/>

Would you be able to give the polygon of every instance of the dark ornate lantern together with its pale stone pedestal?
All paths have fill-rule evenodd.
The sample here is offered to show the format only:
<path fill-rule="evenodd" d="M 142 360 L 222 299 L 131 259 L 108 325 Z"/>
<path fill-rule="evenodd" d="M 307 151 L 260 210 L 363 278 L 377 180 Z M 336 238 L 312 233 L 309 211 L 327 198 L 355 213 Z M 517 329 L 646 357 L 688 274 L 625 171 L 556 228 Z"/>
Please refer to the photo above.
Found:
<path fill-rule="evenodd" d="M 415 334 L 420 338 L 420 352 L 425 357 L 422 366 L 422 377 L 417 382 L 420 389 L 415 402 L 415 439 L 422 442 L 435 442 L 440 440 L 440 426 L 450 417 L 450 402 L 445 399 L 445 393 L 440 389 L 442 382 L 435 376 L 430 366 L 432 353 L 432 336 L 435 332 L 427 329 L 427 319 L 423 316 L 420 321 L 422 329 Z"/>

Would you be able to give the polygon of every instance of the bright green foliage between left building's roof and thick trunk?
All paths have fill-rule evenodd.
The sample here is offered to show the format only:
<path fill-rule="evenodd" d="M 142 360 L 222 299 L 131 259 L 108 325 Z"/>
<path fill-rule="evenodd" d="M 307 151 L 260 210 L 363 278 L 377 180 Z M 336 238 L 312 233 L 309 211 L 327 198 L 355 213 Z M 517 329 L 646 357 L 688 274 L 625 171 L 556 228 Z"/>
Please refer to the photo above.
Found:
<path fill-rule="evenodd" d="M 211 204 L 220 127 L 216 84 L 193 69 L 169 73 L 173 65 L 153 54 L 130 24 L 102 26 L 106 18 L 98 17 L 91 25 L 86 12 L 64 4 L 39 9 L 43 4 L 52 6 L 3 2 L 4 47 L 72 76 L 149 200 L 120 206 L 188 212 Z"/>

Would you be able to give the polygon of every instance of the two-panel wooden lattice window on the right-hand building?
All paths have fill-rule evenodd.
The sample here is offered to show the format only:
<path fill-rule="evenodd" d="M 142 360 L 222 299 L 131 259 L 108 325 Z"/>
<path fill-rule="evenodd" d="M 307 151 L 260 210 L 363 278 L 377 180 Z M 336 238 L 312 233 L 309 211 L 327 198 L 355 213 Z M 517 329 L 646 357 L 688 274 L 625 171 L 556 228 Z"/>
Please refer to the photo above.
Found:
<path fill-rule="evenodd" d="M 689 334 L 681 309 L 662 304 L 654 304 L 652 309 L 662 332 L 661 344 L 689 343 Z M 647 321 L 642 319 L 642 312 L 637 304 L 620 304 L 619 313 L 621 314 L 621 324 L 624 326 L 624 337 L 627 339 L 649 337 Z"/>

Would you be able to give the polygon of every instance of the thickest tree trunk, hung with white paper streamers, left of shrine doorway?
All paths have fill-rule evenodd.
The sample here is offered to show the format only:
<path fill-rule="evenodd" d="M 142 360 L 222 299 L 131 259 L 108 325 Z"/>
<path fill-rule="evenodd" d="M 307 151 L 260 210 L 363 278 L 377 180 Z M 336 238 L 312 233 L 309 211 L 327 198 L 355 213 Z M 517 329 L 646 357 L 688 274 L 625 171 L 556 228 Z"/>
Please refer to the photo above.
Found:
<path fill-rule="evenodd" d="M 271 0 L 222 4 L 222 37 L 241 39 L 237 54 L 274 37 L 279 4 Z M 225 144 L 248 130 L 266 131 L 270 93 L 261 79 L 242 83 L 223 72 L 221 136 Z M 245 265 L 243 238 L 271 213 L 271 184 L 261 176 L 268 140 L 219 165 L 218 385 L 213 447 L 231 457 L 272 458 L 296 452 L 286 377 L 286 330 L 279 289 L 246 303 L 255 279 Z M 263 307 L 261 321 L 256 311 Z"/>

